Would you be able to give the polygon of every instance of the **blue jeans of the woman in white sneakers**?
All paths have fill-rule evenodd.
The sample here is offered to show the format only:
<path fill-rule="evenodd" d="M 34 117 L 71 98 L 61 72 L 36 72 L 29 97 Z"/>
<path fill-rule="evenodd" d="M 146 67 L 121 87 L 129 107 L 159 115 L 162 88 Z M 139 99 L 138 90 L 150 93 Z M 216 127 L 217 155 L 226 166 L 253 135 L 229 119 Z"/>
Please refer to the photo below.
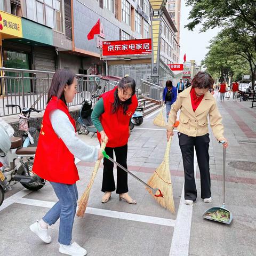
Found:
<path fill-rule="evenodd" d="M 76 214 L 78 192 L 76 183 L 73 185 L 50 182 L 59 201 L 45 214 L 43 221 L 50 226 L 60 218 L 59 239 L 60 244 L 70 245 L 72 229 Z"/>

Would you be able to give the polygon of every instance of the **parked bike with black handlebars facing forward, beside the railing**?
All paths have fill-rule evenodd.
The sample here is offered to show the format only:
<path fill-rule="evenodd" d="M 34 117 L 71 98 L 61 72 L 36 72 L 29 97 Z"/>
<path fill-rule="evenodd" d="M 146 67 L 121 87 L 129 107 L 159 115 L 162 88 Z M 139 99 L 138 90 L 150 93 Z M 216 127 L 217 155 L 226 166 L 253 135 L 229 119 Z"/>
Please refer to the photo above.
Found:
<path fill-rule="evenodd" d="M 30 144 L 34 144 L 33 139 L 33 133 L 37 130 L 35 127 L 29 126 L 29 121 L 31 121 L 32 118 L 30 118 L 31 111 L 36 111 L 37 113 L 40 113 L 40 110 L 37 110 L 35 108 L 21 108 L 20 105 L 5 105 L 6 107 L 18 107 L 20 110 L 19 115 L 19 129 L 20 131 L 23 131 L 22 134 L 22 147 L 26 148 Z"/>

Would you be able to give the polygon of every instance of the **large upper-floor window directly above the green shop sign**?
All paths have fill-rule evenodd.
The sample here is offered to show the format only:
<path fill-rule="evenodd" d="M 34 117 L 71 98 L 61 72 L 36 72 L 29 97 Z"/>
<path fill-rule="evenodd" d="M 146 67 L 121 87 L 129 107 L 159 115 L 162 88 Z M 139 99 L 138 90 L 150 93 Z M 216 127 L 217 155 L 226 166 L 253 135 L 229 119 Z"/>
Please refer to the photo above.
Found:
<path fill-rule="evenodd" d="M 26 0 L 27 18 L 63 32 L 60 0 Z"/>

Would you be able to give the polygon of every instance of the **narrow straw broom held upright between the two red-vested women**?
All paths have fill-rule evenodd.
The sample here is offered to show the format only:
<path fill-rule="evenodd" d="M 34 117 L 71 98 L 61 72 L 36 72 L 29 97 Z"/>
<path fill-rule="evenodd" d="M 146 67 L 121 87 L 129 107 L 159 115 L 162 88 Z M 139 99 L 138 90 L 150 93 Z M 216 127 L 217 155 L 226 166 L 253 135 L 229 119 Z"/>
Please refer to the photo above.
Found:
<path fill-rule="evenodd" d="M 100 150 L 103 151 L 105 149 L 105 147 L 106 147 L 106 143 L 102 142 Z M 93 172 L 92 172 L 91 180 L 90 180 L 89 184 L 87 185 L 87 188 L 85 189 L 84 194 L 79 199 L 78 210 L 77 210 L 77 213 L 76 213 L 76 215 L 78 217 L 84 217 L 86 206 L 87 206 L 87 203 L 88 203 L 88 200 L 89 200 L 90 191 L 91 191 L 95 176 L 96 176 L 96 174 L 99 170 L 100 162 L 101 162 L 101 160 L 96 161 Z"/>

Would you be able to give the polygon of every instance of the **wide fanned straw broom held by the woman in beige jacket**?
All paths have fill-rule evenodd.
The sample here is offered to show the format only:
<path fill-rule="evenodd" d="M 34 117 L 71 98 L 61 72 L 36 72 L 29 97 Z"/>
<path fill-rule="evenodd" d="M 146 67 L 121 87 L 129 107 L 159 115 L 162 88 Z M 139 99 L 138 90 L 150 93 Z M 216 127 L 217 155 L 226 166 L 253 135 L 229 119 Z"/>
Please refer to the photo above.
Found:
<path fill-rule="evenodd" d="M 148 180 L 148 185 L 151 187 L 157 187 L 162 191 L 162 194 L 164 197 L 155 197 L 152 193 L 152 191 L 148 188 L 146 188 L 149 193 L 156 199 L 156 201 L 162 205 L 165 209 L 171 211 L 172 213 L 175 212 L 175 206 L 173 201 L 173 194 L 172 194 L 172 181 L 171 181 L 171 173 L 170 173 L 170 167 L 169 167 L 169 155 L 170 155 L 170 147 L 171 147 L 171 141 L 167 142 L 164 160 L 157 167 L 153 175 Z"/>

